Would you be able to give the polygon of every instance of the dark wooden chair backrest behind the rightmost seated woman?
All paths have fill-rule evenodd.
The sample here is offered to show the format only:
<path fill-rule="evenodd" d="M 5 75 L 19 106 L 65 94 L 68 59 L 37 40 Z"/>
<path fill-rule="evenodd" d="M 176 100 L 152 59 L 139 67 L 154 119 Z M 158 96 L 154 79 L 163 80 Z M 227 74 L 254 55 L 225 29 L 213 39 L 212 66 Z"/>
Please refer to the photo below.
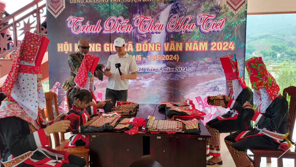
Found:
<path fill-rule="evenodd" d="M 283 91 L 283 97 L 285 99 L 287 99 L 287 94 L 290 96 L 287 131 L 289 132 L 288 139 L 292 139 L 296 119 L 296 86 L 289 86 L 285 88 Z"/>

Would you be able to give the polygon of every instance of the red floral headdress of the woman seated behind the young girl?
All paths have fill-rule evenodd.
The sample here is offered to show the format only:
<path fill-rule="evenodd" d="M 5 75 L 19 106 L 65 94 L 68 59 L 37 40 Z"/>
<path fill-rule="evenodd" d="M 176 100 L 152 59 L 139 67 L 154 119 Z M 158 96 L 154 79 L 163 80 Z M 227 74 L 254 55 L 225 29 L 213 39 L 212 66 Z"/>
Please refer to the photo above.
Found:
<path fill-rule="evenodd" d="M 96 65 L 99 62 L 99 57 L 96 57 L 92 54 L 85 54 L 82 63 L 78 69 L 78 72 L 75 76 L 74 82 L 84 88 L 88 78 L 94 76 L 94 70 L 96 69 Z"/>

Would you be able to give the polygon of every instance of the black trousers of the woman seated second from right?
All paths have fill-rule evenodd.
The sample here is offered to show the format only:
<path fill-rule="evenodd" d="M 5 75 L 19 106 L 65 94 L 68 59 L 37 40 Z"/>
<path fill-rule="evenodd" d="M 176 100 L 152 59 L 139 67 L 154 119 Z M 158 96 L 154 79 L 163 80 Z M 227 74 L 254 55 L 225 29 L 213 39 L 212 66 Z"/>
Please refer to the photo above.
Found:
<path fill-rule="evenodd" d="M 207 122 L 210 128 L 217 129 L 219 133 L 229 133 L 237 131 L 237 119 L 219 120 L 214 118 Z"/>

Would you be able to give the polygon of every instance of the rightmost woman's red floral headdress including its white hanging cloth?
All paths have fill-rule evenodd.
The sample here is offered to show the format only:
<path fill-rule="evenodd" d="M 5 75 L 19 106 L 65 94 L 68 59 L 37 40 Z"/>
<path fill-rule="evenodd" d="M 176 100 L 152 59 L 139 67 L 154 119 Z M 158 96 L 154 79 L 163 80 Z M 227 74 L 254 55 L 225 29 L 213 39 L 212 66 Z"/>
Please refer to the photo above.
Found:
<path fill-rule="evenodd" d="M 250 82 L 253 89 L 259 89 L 261 97 L 254 93 L 254 104 L 261 101 L 260 113 L 265 113 L 267 107 L 279 96 L 279 85 L 276 83 L 274 77 L 267 71 L 262 57 L 252 57 L 246 60 L 245 66 L 248 71 Z"/>

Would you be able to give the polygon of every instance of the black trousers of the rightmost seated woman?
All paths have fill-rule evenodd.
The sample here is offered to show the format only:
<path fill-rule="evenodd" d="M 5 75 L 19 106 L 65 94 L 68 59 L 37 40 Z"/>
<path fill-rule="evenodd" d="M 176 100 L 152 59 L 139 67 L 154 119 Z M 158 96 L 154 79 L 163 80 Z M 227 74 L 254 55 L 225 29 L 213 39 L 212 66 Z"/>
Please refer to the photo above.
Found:
<path fill-rule="evenodd" d="M 274 141 L 271 137 L 266 135 L 252 136 L 241 141 L 236 142 L 234 139 L 239 135 L 240 132 L 233 133 L 225 137 L 224 140 L 234 142 L 231 146 L 238 151 L 245 151 L 252 148 L 261 148 L 261 149 L 277 149 L 279 148 L 279 143 Z"/>

